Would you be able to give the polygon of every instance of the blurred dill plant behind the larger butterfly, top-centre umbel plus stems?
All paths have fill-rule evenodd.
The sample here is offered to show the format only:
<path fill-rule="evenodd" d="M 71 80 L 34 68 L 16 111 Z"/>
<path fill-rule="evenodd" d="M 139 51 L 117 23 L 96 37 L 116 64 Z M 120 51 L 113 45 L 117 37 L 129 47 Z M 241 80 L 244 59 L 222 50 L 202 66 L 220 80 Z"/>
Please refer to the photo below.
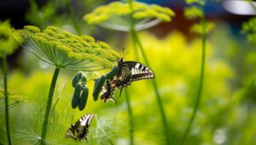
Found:
<path fill-rule="evenodd" d="M 137 31 L 145 30 L 149 27 L 159 24 L 160 22 L 169 22 L 174 16 L 174 12 L 170 8 L 163 8 L 156 4 L 146 4 L 127 0 L 126 2 L 113 2 L 105 6 L 100 6 L 94 9 L 90 14 L 84 15 L 84 21 L 90 25 L 100 25 L 102 27 L 115 30 L 126 31 L 131 35 L 131 40 L 135 48 L 134 54 L 136 59 L 139 59 L 137 52 L 142 54 L 145 64 L 149 66 L 148 58 L 144 51 L 143 43 L 137 35 Z M 157 104 L 160 109 L 162 124 L 166 135 L 166 144 L 171 144 L 168 132 L 168 125 L 163 103 L 160 99 L 160 92 L 155 80 L 152 80 L 154 93 L 157 99 Z M 130 144 L 133 141 L 133 117 L 129 93 L 125 92 L 127 110 L 130 116 Z"/>

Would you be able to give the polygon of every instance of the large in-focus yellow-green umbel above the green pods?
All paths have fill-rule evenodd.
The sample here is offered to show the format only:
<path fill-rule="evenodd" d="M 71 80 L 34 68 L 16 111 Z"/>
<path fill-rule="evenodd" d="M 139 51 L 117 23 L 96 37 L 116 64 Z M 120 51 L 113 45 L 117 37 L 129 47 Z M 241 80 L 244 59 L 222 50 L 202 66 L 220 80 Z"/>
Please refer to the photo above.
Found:
<path fill-rule="evenodd" d="M 116 65 L 119 55 L 105 42 L 91 36 L 75 36 L 48 26 L 44 31 L 27 25 L 15 31 L 26 40 L 28 51 L 39 59 L 69 70 L 102 70 Z"/>

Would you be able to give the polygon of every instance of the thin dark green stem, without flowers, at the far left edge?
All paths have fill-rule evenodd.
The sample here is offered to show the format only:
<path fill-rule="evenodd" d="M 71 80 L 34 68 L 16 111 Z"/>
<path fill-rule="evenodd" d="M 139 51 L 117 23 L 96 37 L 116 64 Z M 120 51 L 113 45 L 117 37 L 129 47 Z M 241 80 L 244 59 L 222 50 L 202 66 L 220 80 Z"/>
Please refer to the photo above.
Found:
<path fill-rule="evenodd" d="M 5 96 L 5 124 L 8 144 L 11 145 L 11 137 L 9 131 L 9 109 L 8 109 L 8 92 L 7 92 L 7 55 L 3 54 L 3 85 L 4 85 L 4 96 Z"/>

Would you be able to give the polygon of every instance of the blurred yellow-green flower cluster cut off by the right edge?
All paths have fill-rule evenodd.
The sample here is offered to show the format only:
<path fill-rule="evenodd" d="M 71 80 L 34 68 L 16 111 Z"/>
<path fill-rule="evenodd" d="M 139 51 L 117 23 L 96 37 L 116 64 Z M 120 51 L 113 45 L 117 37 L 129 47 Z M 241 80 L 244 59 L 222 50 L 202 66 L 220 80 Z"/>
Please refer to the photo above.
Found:
<path fill-rule="evenodd" d="M 242 24 L 242 33 L 247 34 L 247 41 L 256 43 L 256 17 Z"/>

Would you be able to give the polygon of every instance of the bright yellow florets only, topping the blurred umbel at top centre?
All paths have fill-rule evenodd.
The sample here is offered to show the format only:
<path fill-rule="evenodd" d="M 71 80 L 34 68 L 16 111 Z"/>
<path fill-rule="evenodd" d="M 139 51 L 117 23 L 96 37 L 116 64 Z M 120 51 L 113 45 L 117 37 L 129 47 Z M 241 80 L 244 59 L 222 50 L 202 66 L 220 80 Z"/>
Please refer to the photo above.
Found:
<path fill-rule="evenodd" d="M 84 15 L 84 20 L 88 24 L 96 25 L 105 21 L 108 21 L 113 16 L 127 16 L 130 15 L 136 20 L 143 19 L 158 19 L 161 21 L 171 21 L 174 12 L 170 8 L 160 7 L 155 4 L 146 4 L 133 2 L 132 9 L 129 3 L 125 2 L 113 2 L 108 5 L 100 6 L 94 9 L 90 14 Z"/>

